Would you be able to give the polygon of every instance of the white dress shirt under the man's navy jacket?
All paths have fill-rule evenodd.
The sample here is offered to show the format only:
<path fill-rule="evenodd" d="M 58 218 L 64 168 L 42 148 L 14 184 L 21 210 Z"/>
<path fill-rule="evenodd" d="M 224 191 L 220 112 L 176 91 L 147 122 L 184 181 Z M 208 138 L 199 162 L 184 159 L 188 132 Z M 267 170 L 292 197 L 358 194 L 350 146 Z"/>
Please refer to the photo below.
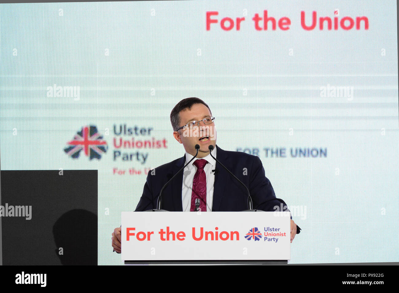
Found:
<path fill-rule="evenodd" d="M 216 156 L 216 148 L 212 150 L 212 155 Z M 186 162 L 190 161 L 194 156 L 186 152 Z M 201 158 L 207 160 L 208 163 L 203 168 L 206 175 L 206 211 L 212 211 L 212 201 L 213 201 L 213 184 L 215 183 L 215 173 L 212 170 L 216 167 L 216 161 L 211 157 L 210 154 Z M 199 160 L 196 158 L 190 164 L 186 166 L 183 170 L 183 186 L 182 186 L 182 205 L 183 211 L 189 212 L 191 209 L 191 195 L 193 192 L 193 181 L 194 175 L 197 172 L 197 167 L 193 164 L 194 161 Z"/>

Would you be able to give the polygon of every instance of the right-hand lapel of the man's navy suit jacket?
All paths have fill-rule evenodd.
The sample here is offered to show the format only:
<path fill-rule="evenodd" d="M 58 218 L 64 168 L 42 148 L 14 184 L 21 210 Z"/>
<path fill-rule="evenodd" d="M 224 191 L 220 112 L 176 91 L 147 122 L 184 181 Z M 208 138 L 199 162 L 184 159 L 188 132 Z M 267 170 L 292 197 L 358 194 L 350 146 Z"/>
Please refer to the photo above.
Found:
<path fill-rule="evenodd" d="M 231 167 L 228 162 L 227 152 L 222 150 L 216 145 L 217 153 L 216 158 L 223 165 L 226 166 L 227 169 L 231 170 Z M 213 202 L 212 202 L 212 211 L 219 211 L 220 203 L 226 192 L 226 183 L 229 181 L 229 176 L 231 176 L 218 162 L 216 162 L 216 170 L 218 171 L 215 174 L 215 183 L 213 184 Z"/>

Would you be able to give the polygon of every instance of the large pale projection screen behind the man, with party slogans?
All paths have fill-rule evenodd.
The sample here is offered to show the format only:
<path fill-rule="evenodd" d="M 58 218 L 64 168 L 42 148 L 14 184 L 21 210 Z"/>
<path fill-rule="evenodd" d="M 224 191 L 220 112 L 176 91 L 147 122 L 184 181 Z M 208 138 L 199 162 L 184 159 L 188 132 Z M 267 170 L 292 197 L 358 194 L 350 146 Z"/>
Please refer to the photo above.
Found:
<path fill-rule="evenodd" d="M 184 155 L 170 111 L 197 97 L 302 228 L 290 264 L 398 262 L 396 5 L 2 4 L 1 169 L 98 170 L 98 264 L 122 264 L 111 233 Z"/>

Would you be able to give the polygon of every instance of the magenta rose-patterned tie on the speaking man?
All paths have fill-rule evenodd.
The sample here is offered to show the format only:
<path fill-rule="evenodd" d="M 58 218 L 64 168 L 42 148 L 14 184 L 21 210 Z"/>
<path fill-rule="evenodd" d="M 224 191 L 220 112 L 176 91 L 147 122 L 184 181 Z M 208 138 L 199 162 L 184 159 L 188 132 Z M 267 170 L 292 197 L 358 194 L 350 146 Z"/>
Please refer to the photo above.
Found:
<path fill-rule="evenodd" d="M 206 212 L 206 174 L 203 167 L 207 164 L 207 160 L 199 159 L 193 163 L 197 167 L 197 172 L 193 180 L 193 192 L 191 194 L 190 211 L 196 210 L 196 201 L 199 200 L 199 211 Z"/>

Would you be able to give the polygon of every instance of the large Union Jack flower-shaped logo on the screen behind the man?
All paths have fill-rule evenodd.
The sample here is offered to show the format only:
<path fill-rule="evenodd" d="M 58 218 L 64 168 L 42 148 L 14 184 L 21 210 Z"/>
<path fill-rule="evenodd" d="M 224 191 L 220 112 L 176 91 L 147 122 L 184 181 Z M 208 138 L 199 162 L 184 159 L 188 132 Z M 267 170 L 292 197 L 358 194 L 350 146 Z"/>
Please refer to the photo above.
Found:
<path fill-rule="evenodd" d="M 92 160 L 93 158 L 101 159 L 101 154 L 107 152 L 107 149 L 107 142 L 98 133 L 97 127 L 90 125 L 82 127 L 81 131 L 78 131 L 73 137 L 73 140 L 68 142 L 68 147 L 64 148 L 64 151 L 76 159 L 79 158 L 83 150 L 85 155 Z"/>

